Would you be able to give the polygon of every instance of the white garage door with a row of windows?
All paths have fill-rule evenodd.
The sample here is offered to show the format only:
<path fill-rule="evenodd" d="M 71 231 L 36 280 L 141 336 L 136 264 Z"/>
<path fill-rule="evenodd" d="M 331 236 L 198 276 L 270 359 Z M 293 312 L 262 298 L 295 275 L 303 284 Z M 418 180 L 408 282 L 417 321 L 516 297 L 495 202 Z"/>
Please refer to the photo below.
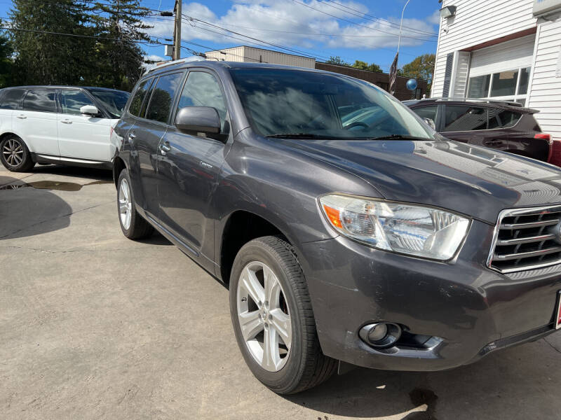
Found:
<path fill-rule="evenodd" d="M 467 96 L 525 104 L 535 41 L 536 36 L 529 35 L 474 51 Z"/>

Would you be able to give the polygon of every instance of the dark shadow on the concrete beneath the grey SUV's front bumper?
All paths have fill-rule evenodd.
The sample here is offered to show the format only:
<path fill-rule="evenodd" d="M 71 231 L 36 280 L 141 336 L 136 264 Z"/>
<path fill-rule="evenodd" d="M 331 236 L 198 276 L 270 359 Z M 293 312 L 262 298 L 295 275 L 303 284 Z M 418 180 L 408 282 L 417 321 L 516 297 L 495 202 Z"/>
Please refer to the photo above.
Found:
<path fill-rule="evenodd" d="M 558 419 L 560 351 L 539 342 L 442 372 L 358 368 L 288 400 L 327 415 L 428 419 Z"/>

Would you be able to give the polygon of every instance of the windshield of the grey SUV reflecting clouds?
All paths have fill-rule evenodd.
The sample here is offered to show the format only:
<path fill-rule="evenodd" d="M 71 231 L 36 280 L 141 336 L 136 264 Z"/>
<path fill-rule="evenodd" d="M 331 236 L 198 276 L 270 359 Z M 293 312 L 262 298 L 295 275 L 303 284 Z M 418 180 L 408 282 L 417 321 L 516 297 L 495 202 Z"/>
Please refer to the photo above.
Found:
<path fill-rule="evenodd" d="M 363 80 L 297 69 L 230 71 L 250 124 L 263 136 L 435 138 L 407 107 Z"/>

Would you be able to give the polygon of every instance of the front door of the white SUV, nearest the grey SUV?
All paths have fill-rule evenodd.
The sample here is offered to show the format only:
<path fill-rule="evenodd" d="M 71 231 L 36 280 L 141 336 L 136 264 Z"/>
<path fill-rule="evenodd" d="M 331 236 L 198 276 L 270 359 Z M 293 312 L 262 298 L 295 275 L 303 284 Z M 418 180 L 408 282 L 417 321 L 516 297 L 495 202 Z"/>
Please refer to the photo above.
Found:
<path fill-rule="evenodd" d="M 86 116 L 82 106 L 95 106 L 93 99 L 81 89 L 62 89 L 59 94 L 58 146 L 62 158 L 78 158 L 108 162 L 111 160 L 111 120 L 101 113 Z"/>

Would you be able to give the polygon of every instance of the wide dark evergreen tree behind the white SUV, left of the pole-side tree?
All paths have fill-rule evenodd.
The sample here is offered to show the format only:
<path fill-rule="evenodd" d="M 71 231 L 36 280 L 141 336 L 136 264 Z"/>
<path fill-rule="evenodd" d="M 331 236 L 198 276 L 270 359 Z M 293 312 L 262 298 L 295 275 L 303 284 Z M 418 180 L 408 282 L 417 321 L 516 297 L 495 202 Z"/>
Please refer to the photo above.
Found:
<path fill-rule="evenodd" d="M 8 14 L 16 83 L 74 85 L 90 76 L 94 40 L 76 37 L 93 34 L 85 1 L 13 0 Z"/>

